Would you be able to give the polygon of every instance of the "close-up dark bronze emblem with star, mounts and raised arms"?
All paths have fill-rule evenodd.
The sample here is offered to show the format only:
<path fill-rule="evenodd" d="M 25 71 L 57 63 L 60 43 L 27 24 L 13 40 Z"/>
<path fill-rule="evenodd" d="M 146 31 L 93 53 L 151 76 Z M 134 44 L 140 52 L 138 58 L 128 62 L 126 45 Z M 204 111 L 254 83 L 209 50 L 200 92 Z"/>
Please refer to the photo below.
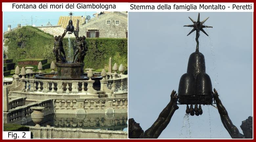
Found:
<path fill-rule="evenodd" d="M 160 113 L 155 123 L 145 132 L 141 129 L 139 123 L 136 123 L 133 118 L 130 118 L 128 121 L 129 138 L 158 138 L 161 132 L 169 124 L 174 112 L 179 108 L 177 104 L 186 104 L 186 114 L 190 114 L 192 116 L 198 116 L 203 114 L 201 104 L 216 104 L 216 108 L 219 111 L 221 121 L 225 129 L 230 134 L 231 138 L 252 138 L 252 117 L 249 116 L 248 119 L 242 122 L 242 125 L 240 127 L 243 130 L 244 134 L 241 134 L 237 127 L 233 125 L 232 121 L 230 120 L 228 113 L 225 107 L 223 106 L 221 100 L 219 99 L 219 95 L 215 88 L 214 92 L 212 92 L 212 84 L 210 77 L 205 73 L 204 56 L 202 53 L 199 52 L 198 39 L 200 36 L 200 31 L 202 31 L 204 34 L 208 36 L 208 34 L 203 30 L 203 28 L 205 27 L 211 27 L 203 25 L 208 18 L 200 22 L 200 13 L 198 13 L 197 22 L 195 22 L 192 18 L 189 17 L 189 19 L 193 22 L 193 25 L 184 26 L 194 27 L 188 33 L 188 35 L 196 31 L 197 45 L 196 51 L 192 53 L 189 57 L 187 73 L 181 76 L 178 95 L 176 94 L 176 91 L 172 91 L 170 102 Z M 188 106 L 189 104 L 190 108 Z M 193 104 L 195 104 L 194 108 Z"/>

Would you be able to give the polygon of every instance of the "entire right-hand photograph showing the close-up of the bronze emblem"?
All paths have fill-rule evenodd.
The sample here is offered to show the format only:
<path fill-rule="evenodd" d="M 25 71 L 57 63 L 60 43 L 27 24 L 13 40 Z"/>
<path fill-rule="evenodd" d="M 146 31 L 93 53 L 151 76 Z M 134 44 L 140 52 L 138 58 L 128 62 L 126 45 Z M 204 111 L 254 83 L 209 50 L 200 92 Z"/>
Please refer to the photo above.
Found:
<path fill-rule="evenodd" d="M 253 13 L 129 12 L 130 139 L 253 138 Z"/>

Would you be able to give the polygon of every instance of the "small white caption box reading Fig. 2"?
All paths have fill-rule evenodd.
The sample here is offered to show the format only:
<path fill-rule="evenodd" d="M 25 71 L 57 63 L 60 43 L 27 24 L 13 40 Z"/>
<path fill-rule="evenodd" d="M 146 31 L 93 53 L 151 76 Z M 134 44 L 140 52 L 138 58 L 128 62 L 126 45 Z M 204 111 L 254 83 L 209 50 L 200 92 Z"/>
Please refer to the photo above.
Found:
<path fill-rule="evenodd" d="M 31 132 L 3 131 L 3 139 L 31 139 Z"/>

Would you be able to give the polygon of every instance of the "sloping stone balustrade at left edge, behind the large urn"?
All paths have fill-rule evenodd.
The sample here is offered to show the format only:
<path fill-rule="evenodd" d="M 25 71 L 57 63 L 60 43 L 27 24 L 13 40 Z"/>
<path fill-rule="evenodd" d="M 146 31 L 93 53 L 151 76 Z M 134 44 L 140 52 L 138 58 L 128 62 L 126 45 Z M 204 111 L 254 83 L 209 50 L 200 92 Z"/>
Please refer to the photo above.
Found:
<path fill-rule="evenodd" d="M 41 100 L 33 102 L 27 105 L 19 106 L 14 109 L 4 112 L 4 123 L 17 123 L 25 124 L 28 121 L 31 121 L 31 113 L 33 112 L 30 107 L 33 106 L 42 106 L 45 109 L 42 111 L 44 115 L 49 115 L 54 113 L 52 99 Z"/>

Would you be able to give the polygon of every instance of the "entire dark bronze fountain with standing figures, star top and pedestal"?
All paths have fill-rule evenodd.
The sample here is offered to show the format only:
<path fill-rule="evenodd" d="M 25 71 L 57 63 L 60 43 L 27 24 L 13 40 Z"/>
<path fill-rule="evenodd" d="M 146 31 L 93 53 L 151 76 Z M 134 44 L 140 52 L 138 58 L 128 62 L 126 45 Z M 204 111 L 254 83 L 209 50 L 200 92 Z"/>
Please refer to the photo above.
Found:
<path fill-rule="evenodd" d="M 38 74 L 35 76 L 36 79 L 52 79 L 52 80 L 89 80 L 87 77 L 87 73 L 84 73 L 84 58 L 87 51 L 87 43 L 85 36 L 78 37 L 78 31 L 75 30 L 73 26 L 72 16 L 73 13 L 69 13 L 70 20 L 69 24 L 64 30 L 64 33 L 60 36 L 54 37 L 54 47 L 53 53 L 55 55 L 55 66 L 57 68 L 57 72 L 55 73 L 44 73 Z M 79 21 L 78 21 L 79 22 Z M 78 28 L 78 27 L 76 27 Z M 74 55 L 73 62 L 68 62 L 66 59 L 66 54 L 63 48 L 63 38 L 66 33 L 72 34 L 74 33 L 76 38 L 76 52 Z M 95 85 L 100 86 L 99 80 L 102 77 L 99 74 L 94 74 L 92 77 L 93 80 L 96 81 Z"/>

